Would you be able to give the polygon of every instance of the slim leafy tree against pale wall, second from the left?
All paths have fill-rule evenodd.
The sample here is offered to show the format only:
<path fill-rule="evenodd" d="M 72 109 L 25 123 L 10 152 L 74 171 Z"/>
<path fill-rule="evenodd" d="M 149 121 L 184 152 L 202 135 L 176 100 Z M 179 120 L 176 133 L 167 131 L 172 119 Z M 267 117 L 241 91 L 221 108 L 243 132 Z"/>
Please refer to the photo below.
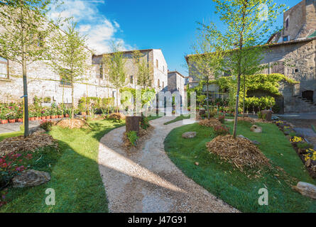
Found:
<path fill-rule="evenodd" d="M 87 63 L 89 50 L 85 48 L 86 38 L 76 31 L 76 25 L 76 23 L 70 23 L 65 33 L 60 31 L 51 38 L 50 62 L 48 62 L 48 65 L 62 77 L 64 82 L 70 83 L 72 118 L 74 118 L 75 82 L 87 79 L 85 74 L 91 67 Z"/>

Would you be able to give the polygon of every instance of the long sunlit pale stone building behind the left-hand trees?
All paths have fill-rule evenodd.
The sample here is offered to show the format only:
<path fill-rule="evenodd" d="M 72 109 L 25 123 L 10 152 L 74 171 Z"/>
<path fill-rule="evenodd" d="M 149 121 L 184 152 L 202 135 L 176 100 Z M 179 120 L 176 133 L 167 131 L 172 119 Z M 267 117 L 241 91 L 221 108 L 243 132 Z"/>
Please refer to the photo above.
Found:
<path fill-rule="evenodd" d="M 92 65 L 86 75 L 82 75 L 80 82 L 75 82 L 75 105 L 79 99 L 84 96 L 94 97 L 114 97 L 117 98 L 116 90 L 111 84 L 100 74 L 100 60 L 102 55 L 93 55 L 90 50 L 87 63 Z M 148 64 L 153 66 L 153 88 L 159 92 L 163 87 L 168 86 L 168 65 L 163 57 L 161 50 L 141 50 L 143 57 L 146 57 Z M 126 56 L 126 75 L 129 80 L 127 87 L 133 87 L 134 65 L 131 62 L 131 51 L 124 52 Z M 63 82 L 58 74 L 43 61 L 33 62 L 27 67 L 28 72 L 28 101 L 33 103 L 34 96 L 48 97 L 51 102 L 57 104 L 63 101 L 71 103 L 71 86 L 67 82 Z M 0 101 L 19 101 L 23 96 L 22 67 L 16 62 L 11 62 L 0 57 Z M 62 95 L 63 94 L 63 95 Z"/>

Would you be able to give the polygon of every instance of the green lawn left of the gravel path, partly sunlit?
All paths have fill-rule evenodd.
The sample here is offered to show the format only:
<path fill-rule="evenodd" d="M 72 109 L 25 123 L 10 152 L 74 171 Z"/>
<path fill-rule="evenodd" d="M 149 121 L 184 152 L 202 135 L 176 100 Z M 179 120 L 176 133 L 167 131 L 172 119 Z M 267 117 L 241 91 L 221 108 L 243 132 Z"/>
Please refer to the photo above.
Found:
<path fill-rule="evenodd" d="M 99 175 L 99 140 L 123 126 L 121 121 L 90 121 L 89 129 L 53 127 L 50 135 L 60 151 L 39 150 L 33 169 L 50 172 L 50 182 L 38 187 L 9 189 L 9 204 L 0 212 L 107 212 L 107 197 Z M 55 189 L 55 206 L 45 204 L 45 190 Z"/>

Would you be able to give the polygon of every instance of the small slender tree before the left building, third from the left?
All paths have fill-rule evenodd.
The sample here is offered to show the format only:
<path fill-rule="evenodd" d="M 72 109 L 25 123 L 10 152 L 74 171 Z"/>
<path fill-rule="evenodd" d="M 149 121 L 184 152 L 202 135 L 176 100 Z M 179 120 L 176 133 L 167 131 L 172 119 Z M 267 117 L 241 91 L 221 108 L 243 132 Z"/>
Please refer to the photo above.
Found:
<path fill-rule="evenodd" d="M 124 52 L 120 44 L 112 43 L 112 52 L 103 56 L 109 82 L 116 89 L 116 111 L 119 111 L 119 89 L 126 85 Z"/>

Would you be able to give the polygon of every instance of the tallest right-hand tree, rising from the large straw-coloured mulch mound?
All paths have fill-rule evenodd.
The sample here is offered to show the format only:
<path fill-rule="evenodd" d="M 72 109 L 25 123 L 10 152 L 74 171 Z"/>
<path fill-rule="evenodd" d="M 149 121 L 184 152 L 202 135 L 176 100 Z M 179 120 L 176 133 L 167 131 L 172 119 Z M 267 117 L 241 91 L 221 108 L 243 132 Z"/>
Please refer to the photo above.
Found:
<path fill-rule="evenodd" d="M 227 53 L 223 68 L 229 68 L 236 77 L 236 105 L 234 118 L 234 138 L 236 138 L 237 117 L 239 114 L 239 92 L 241 76 L 254 74 L 260 70 L 263 55 L 262 44 L 276 17 L 284 5 L 277 6 L 273 0 L 213 0 L 216 3 L 220 20 L 226 31 L 221 33 L 223 48 Z M 205 29 L 214 31 L 212 26 Z M 217 33 L 220 33 L 217 31 Z M 251 59 L 249 58 L 251 56 Z M 226 58 L 225 57 L 225 58 Z"/>

